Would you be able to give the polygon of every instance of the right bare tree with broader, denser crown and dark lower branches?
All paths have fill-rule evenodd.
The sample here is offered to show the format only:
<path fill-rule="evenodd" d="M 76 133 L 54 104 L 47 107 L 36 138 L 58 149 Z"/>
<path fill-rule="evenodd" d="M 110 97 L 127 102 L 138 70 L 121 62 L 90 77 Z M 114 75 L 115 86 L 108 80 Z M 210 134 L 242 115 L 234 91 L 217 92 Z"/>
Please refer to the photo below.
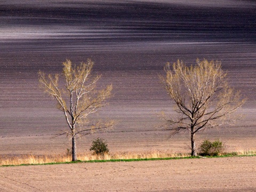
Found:
<path fill-rule="evenodd" d="M 234 124 L 240 117 L 234 115 L 245 100 L 230 88 L 227 74 L 220 61 L 196 61 L 186 67 L 182 61 L 166 63 L 166 78 L 161 77 L 170 97 L 175 102 L 176 116 L 163 113 L 163 127 L 171 135 L 188 130 L 191 134 L 191 155 L 196 156 L 195 133 L 222 124 Z"/>

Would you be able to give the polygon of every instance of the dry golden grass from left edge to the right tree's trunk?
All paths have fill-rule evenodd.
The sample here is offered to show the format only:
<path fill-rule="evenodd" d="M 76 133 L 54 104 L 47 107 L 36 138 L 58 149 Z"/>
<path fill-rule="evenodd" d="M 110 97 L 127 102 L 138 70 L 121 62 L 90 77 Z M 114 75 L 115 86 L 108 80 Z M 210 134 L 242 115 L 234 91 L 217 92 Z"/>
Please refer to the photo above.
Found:
<path fill-rule="evenodd" d="M 174 154 L 171 151 L 143 151 L 140 153 L 127 152 L 127 153 L 109 153 L 104 156 L 94 155 L 92 153 L 78 154 L 77 159 L 81 161 L 93 161 L 93 160 L 109 160 L 109 159 L 140 159 L 140 158 L 165 158 L 165 157 L 188 157 L 190 154 Z M 21 164 L 45 164 L 45 163 L 60 163 L 70 162 L 71 155 L 22 155 L 22 156 L 5 156 L 0 157 L 1 165 L 21 165 Z"/>

